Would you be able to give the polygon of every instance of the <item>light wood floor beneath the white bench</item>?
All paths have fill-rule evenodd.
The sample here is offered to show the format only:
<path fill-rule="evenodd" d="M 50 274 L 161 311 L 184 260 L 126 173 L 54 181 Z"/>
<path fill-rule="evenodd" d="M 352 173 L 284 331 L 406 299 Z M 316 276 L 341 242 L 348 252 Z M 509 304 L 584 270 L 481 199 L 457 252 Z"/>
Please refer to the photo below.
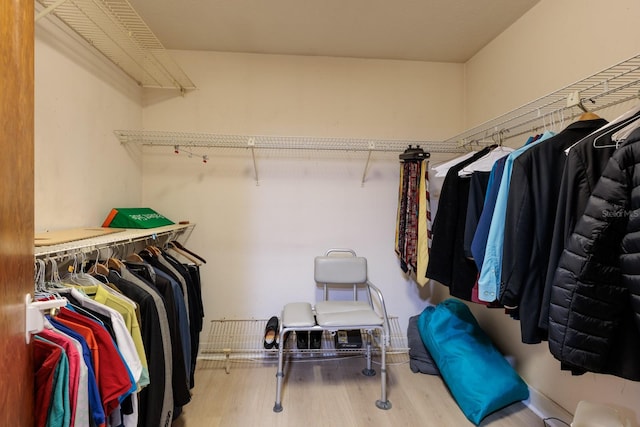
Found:
<path fill-rule="evenodd" d="M 360 373 L 360 356 L 294 359 L 285 367 L 280 413 L 273 412 L 275 360 L 237 361 L 227 374 L 220 361 L 199 360 L 192 401 L 172 427 L 464 427 L 473 426 L 438 376 L 414 374 L 406 355 L 390 357 L 390 410 L 375 406 L 380 377 Z M 377 368 L 377 365 L 374 365 Z M 522 403 L 485 418 L 483 427 L 542 427 Z"/>

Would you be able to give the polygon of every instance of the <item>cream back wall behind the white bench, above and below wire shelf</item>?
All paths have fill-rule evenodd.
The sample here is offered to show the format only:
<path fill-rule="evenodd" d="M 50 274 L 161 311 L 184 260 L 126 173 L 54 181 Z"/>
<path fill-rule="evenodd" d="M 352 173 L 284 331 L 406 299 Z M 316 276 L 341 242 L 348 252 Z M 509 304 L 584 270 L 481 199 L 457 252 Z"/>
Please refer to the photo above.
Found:
<path fill-rule="evenodd" d="M 173 55 L 198 90 L 179 99 L 148 92 L 146 129 L 422 140 L 461 130 L 460 64 Z M 189 247 L 209 261 L 205 325 L 314 302 L 313 257 L 336 246 L 369 259 L 370 278 L 404 330 L 422 310 L 429 290 L 403 277 L 394 254 L 397 154 L 374 154 L 361 186 L 364 153 L 259 151 L 259 185 L 249 151 L 198 153 L 209 162 L 172 147 L 147 149 L 143 202 L 197 223 Z"/>

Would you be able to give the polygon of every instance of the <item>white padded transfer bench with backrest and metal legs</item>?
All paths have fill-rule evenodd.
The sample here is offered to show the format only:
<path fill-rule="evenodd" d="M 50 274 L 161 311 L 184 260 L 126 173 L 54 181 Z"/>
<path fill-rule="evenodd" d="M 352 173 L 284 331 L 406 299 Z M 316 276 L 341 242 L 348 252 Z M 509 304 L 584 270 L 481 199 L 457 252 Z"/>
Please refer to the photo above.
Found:
<path fill-rule="evenodd" d="M 330 249 L 324 256 L 315 258 L 314 278 L 323 287 L 323 300 L 312 307 L 309 303 L 286 304 L 281 316 L 280 337 L 296 331 L 360 330 L 365 333 L 364 348 L 366 367 L 362 373 L 376 374 L 372 368 L 372 343 L 380 348 L 381 397 L 376 401 L 380 409 L 390 409 L 387 399 L 386 349 L 389 345 L 389 318 L 382 292 L 367 276 L 367 259 L 359 257 L 351 249 Z M 352 287 L 353 296 L 348 300 L 331 299 L 334 288 Z M 364 290 L 366 301 L 358 300 Z M 284 381 L 284 342 L 278 348 L 276 373 L 276 402 L 274 412 L 282 411 L 282 383 Z"/>

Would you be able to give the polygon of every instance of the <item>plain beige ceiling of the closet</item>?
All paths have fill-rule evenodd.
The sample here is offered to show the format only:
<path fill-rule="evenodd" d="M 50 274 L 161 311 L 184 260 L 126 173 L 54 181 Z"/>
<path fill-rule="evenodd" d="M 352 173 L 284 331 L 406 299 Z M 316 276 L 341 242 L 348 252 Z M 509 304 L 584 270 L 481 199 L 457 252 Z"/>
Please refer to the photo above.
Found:
<path fill-rule="evenodd" d="M 539 0 L 129 0 L 167 49 L 466 62 Z"/>

